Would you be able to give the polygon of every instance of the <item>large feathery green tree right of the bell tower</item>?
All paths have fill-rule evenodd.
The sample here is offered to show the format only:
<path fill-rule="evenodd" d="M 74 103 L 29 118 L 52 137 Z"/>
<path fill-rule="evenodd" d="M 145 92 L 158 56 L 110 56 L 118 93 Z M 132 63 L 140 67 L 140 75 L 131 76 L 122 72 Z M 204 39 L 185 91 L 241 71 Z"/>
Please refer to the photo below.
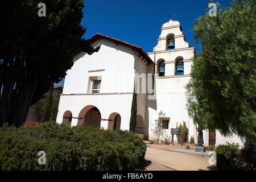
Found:
<path fill-rule="evenodd" d="M 256 139 L 255 1 L 233 1 L 195 20 L 201 51 L 187 85 L 188 113 L 202 129 Z"/>

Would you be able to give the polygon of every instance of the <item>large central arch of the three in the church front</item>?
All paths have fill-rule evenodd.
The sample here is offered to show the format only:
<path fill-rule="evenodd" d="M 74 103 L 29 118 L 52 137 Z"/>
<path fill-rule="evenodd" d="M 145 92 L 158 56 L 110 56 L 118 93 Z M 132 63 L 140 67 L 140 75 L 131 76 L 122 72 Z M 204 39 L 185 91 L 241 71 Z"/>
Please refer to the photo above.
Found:
<path fill-rule="evenodd" d="M 96 106 L 88 105 L 85 106 L 79 113 L 77 126 L 101 126 L 101 113 Z"/>

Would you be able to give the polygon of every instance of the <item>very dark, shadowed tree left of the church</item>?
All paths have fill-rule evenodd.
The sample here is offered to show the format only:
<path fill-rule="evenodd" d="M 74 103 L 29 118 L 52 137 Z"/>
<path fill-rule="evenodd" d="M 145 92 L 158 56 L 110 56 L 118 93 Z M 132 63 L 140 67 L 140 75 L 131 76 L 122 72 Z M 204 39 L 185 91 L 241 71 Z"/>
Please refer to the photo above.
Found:
<path fill-rule="evenodd" d="M 0 1 L 0 125 L 21 125 L 29 107 L 65 77 L 73 57 L 98 51 L 82 39 L 83 0 Z"/>

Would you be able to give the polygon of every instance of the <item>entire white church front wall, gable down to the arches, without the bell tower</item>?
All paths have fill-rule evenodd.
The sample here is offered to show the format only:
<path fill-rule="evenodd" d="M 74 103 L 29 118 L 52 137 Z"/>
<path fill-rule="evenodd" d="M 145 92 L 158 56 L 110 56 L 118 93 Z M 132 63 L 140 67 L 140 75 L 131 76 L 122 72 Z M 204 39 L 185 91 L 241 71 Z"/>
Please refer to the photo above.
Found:
<path fill-rule="evenodd" d="M 92 46 L 101 44 L 100 51 L 87 55 L 79 53 L 74 65 L 67 71 L 63 95 L 60 97 L 57 122 L 63 122 L 63 114 L 72 113 L 72 126 L 76 126 L 80 111 L 88 105 L 100 110 L 101 119 L 109 119 L 110 114 L 121 116 L 122 130 L 129 130 L 131 102 L 134 90 L 135 71 L 147 73 L 147 64 L 137 52 L 112 41 L 96 40 Z M 88 89 L 89 77 L 101 77 L 100 94 L 91 94 Z M 145 118 L 146 94 L 138 94 L 138 114 Z M 108 121 L 101 121 L 101 127 L 108 129 Z"/>

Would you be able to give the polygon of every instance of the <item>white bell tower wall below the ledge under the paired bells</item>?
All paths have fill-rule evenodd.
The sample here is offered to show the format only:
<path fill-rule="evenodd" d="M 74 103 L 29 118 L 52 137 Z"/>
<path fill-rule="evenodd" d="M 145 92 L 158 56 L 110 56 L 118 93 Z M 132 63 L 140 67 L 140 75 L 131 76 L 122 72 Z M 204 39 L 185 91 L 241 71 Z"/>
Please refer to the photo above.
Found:
<path fill-rule="evenodd" d="M 176 123 L 178 126 L 180 123 L 183 125 L 183 121 L 189 129 L 189 139 L 194 135 L 193 121 L 189 118 L 185 107 L 187 100 L 184 86 L 189 79 L 189 76 L 156 78 L 156 109 L 150 109 L 149 111 L 151 121 L 149 128 L 150 138 L 155 138 L 151 130 L 154 129 L 155 119 L 158 119 L 160 110 L 166 113 L 165 117 L 170 117 L 169 129 L 165 130 L 166 135 L 171 136 L 171 128 L 176 128 Z"/>

